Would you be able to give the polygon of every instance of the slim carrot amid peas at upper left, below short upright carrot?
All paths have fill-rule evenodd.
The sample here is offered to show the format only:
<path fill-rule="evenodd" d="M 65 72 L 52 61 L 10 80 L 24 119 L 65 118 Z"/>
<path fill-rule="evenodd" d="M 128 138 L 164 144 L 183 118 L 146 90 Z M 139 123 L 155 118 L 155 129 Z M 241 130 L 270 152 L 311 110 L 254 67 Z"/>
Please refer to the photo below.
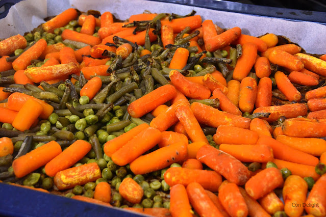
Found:
<path fill-rule="evenodd" d="M 72 31 L 72 30 L 68 30 L 68 29 L 66 29 L 62 32 L 61 37 L 63 40 L 68 39 L 68 40 L 72 40 L 72 41 L 79 41 L 79 42 L 83 42 L 85 44 L 89 44 L 91 46 L 101 43 L 101 39 L 99 39 L 98 37 L 86 35 L 83 33 L 78 33 L 76 31 Z"/>

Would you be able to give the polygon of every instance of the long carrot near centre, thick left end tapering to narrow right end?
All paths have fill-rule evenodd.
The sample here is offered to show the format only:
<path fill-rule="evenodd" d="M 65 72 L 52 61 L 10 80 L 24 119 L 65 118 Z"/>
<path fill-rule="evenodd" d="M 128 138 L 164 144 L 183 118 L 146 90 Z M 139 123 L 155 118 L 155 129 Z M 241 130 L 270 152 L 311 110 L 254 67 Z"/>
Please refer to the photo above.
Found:
<path fill-rule="evenodd" d="M 249 118 L 244 118 L 238 115 L 221 112 L 217 108 L 205 105 L 199 102 L 193 102 L 190 106 L 194 116 L 201 124 L 206 124 L 211 127 L 219 125 L 236 126 L 244 129 L 249 129 Z"/>

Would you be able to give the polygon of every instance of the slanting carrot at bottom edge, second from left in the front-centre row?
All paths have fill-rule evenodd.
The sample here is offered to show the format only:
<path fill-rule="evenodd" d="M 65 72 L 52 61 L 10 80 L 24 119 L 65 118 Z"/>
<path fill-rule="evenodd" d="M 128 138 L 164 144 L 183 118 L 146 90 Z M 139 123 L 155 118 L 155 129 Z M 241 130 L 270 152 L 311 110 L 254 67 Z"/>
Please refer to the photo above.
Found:
<path fill-rule="evenodd" d="M 188 184 L 187 194 L 192 207 L 200 216 L 223 216 L 199 183 Z"/>

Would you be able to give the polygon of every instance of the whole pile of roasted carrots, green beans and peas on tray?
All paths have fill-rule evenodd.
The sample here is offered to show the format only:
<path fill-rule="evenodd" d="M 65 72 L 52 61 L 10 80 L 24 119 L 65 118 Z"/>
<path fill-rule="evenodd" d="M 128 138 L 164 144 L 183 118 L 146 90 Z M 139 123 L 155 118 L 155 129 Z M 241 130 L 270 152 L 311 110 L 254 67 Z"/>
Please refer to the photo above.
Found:
<path fill-rule="evenodd" d="M 194 11 L 72 8 L 0 55 L 0 182 L 153 216 L 326 215 L 326 55 Z"/>

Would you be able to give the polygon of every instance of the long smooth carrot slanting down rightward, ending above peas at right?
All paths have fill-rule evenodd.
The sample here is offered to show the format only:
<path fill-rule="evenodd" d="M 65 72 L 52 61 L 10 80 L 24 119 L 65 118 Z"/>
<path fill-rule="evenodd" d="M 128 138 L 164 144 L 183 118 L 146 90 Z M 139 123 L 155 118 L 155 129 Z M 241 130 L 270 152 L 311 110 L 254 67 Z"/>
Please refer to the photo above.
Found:
<path fill-rule="evenodd" d="M 274 158 L 316 166 L 318 158 L 307 154 L 303 151 L 296 150 L 270 137 L 262 136 L 259 138 L 257 145 L 268 145 L 273 149 Z"/>

